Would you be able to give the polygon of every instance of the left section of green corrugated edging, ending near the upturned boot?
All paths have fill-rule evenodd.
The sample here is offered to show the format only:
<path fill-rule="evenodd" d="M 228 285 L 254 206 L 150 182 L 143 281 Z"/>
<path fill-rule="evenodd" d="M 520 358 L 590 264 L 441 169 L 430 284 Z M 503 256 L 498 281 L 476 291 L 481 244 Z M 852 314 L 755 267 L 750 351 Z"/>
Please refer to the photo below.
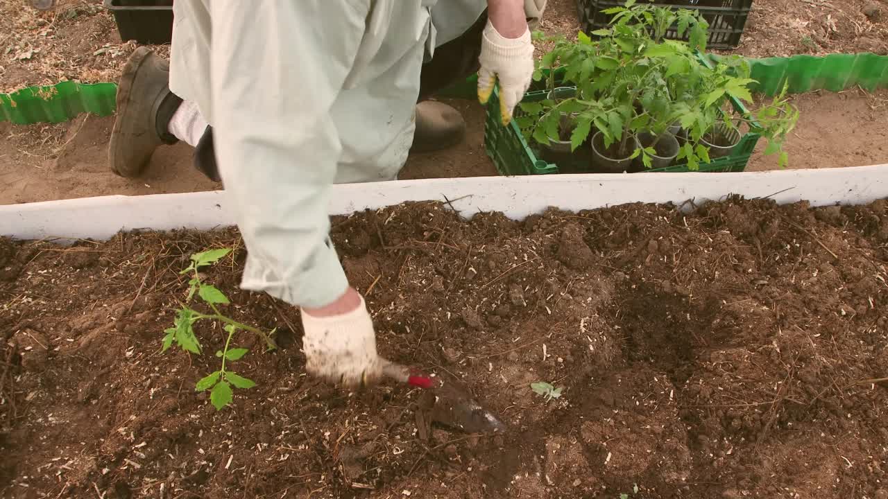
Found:
<path fill-rule="evenodd" d="M 0 122 L 61 123 L 81 113 L 113 115 L 115 83 L 62 82 L 0 94 Z"/>

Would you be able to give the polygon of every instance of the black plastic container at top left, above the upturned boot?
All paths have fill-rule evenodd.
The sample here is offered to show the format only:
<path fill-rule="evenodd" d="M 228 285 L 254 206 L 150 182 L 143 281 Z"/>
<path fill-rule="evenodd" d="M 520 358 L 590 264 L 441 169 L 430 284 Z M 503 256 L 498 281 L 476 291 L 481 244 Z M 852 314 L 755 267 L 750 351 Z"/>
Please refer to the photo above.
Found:
<path fill-rule="evenodd" d="M 172 41 L 172 0 L 105 0 L 121 39 L 159 45 Z"/>

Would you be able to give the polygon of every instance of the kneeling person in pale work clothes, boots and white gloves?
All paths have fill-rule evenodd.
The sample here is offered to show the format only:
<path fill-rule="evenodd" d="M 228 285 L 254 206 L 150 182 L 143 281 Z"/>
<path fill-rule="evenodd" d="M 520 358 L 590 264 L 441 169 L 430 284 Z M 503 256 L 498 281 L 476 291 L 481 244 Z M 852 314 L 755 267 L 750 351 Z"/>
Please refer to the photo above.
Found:
<path fill-rule="evenodd" d="M 234 207 L 242 288 L 302 307 L 308 372 L 372 384 L 382 362 L 329 241 L 330 185 L 394 179 L 408 151 L 456 144 L 463 118 L 425 99 L 475 71 L 482 103 L 498 80 L 508 123 L 545 3 L 178 0 L 172 67 L 140 47 L 123 70 L 111 168 L 137 177 L 155 148 L 194 146 Z"/>

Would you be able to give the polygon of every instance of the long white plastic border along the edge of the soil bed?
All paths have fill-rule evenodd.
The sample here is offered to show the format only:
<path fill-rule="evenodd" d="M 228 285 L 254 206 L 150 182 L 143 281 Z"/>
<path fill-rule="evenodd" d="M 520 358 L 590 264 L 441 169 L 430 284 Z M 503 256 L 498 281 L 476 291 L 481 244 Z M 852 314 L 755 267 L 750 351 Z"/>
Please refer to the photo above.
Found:
<path fill-rule="evenodd" d="M 729 194 L 813 206 L 865 204 L 888 198 L 888 164 L 827 170 L 742 173 L 635 173 L 397 180 L 334 186 L 330 214 L 375 210 L 409 201 L 449 200 L 463 216 L 502 211 L 525 218 L 548 207 L 576 211 L 630 202 L 700 205 Z M 233 226 L 222 191 L 100 196 L 0 206 L 0 235 L 15 239 L 106 240 L 135 229 L 207 230 Z"/>

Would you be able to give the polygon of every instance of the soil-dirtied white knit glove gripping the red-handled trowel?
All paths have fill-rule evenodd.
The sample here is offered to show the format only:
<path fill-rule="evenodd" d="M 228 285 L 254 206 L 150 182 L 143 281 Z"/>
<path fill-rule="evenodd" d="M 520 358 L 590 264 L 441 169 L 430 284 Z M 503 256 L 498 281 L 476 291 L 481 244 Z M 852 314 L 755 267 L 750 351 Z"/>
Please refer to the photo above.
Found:
<path fill-rule="evenodd" d="M 375 384 L 383 362 L 377 355 L 377 338 L 367 305 L 332 317 L 302 312 L 305 370 L 331 383 L 347 387 Z"/>

